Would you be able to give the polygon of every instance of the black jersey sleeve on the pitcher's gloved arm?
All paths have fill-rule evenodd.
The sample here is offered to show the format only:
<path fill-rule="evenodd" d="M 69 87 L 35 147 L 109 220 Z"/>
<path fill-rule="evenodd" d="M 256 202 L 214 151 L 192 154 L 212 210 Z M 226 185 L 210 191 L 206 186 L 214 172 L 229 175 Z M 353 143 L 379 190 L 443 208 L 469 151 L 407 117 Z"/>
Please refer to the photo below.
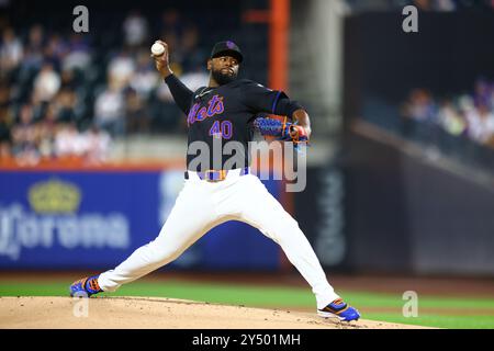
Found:
<path fill-rule="evenodd" d="M 254 81 L 246 81 L 240 91 L 244 104 L 254 113 L 274 114 L 278 102 L 288 99 L 283 91 L 271 90 Z"/>

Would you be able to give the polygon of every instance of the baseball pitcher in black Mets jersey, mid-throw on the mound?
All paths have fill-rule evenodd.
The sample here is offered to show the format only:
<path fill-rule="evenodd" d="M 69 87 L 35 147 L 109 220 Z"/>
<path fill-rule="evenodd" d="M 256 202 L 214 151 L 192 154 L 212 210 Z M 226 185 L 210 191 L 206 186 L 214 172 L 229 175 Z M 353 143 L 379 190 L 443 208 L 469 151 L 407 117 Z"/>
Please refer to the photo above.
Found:
<path fill-rule="evenodd" d="M 155 50 L 159 45 L 164 49 Z M 346 321 L 359 319 L 358 310 L 346 304 L 328 283 L 299 224 L 259 178 L 250 173 L 247 150 L 254 131 L 257 128 L 263 135 L 295 145 L 306 143 L 311 124 L 304 107 L 282 91 L 237 79 L 243 54 L 233 42 L 214 45 L 207 60 L 209 84 L 197 91 L 189 90 L 170 70 L 165 42 L 157 41 L 153 53 L 156 69 L 187 115 L 189 132 L 183 189 L 155 240 L 135 250 L 113 270 L 76 281 L 70 286 L 70 295 L 114 292 L 122 284 L 173 261 L 211 228 L 234 219 L 258 228 L 280 245 L 311 285 L 319 316 Z M 287 116 L 289 121 L 259 118 L 260 114 Z M 236 141 L 245 150 L 236 152 L 234 162 L 231 161 L 232 151 L 215 148 L 215 143 L 229 141 Z M 213 152 L 207 155 L 203 146 Z M 206 155 L 199 155 L 202 152 Z"/>

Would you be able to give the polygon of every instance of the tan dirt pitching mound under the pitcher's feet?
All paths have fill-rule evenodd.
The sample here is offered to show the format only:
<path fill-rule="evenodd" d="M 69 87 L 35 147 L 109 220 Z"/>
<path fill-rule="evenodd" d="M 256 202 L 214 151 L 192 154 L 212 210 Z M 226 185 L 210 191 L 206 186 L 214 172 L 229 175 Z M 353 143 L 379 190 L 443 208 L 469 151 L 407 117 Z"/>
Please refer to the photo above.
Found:
<path fill-rule="evenodd" d="M 417 328 L 315 314 L 149 297 L 0 297 L 3 328 L 345 329 Z"/>

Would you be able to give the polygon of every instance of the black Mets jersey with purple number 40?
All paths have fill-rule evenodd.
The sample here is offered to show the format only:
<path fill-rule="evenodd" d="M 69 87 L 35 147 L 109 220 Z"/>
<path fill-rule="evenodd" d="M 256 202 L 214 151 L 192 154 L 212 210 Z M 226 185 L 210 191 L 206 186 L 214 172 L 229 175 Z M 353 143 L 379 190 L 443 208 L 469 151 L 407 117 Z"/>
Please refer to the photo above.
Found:
<path fill-rule="evenodd" d="M 172 84 L 177 81 L 166 81 L 173 94 Z M 254 120 L 262 113 L 274 114 L 279 101 L 288 99 L 282 91 L 246 79 L 216 88 L 200 88 L 190 97 L 189 106 L 186 106 L 186 100 L 177 92 L 173 94 L 187 114 L 187 168 L 193 171 L 249 166 L 248 143 L 254 136 Z"/>

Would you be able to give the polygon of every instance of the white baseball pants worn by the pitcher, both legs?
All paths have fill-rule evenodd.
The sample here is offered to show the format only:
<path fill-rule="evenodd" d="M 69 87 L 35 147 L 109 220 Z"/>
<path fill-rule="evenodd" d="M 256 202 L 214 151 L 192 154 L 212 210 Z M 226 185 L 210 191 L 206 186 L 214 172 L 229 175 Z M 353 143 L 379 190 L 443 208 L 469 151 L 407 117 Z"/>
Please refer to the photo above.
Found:
<path fill-rule="evenodd" d="M 312 286 L 317 308 L 338 298 L 299 224 L 252 174 L 228 171 L 224 181 L 207 182 L 189 171 L 158 237 L 135 250 L 98 283 L 113 292 L 173 261 L 211 228 L 232 219 L 247 223 L 281 246 L 290 262 Z"/>

